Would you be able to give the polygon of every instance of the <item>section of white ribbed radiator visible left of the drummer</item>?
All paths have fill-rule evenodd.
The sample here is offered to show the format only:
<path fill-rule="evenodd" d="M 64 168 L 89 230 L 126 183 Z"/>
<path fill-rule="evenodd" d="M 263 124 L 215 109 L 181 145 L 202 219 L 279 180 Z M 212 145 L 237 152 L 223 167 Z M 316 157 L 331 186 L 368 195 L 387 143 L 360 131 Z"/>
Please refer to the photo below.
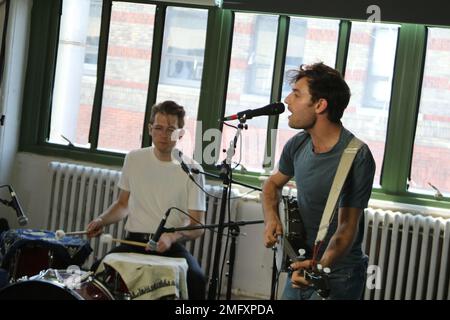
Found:
<path fill-rule="evenodd" d="M 50 215 L 48 230 L 66 232 L 85 230 L 87 224 L 117 199 L 120 171 L 94 168 L 70 163 L 51 162 Z M 123 239 L 125 221 L 105 228 L 114 238 Z M 85 266 L 105 255 L 115 244 L 100 244 L 91 240 L 94 250 Z"/>

